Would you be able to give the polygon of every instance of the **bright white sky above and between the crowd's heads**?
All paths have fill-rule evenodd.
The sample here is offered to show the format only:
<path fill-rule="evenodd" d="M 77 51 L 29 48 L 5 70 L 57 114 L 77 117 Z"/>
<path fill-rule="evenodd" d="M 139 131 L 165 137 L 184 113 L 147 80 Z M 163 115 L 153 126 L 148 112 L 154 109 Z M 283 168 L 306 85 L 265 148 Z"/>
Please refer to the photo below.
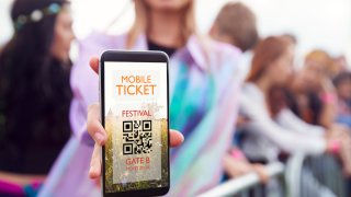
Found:
<path fill-rule="evenodd" d="M 220 8 L 229 0 L 196 1 L 196 22 L 201 33 L 211 27 Z M 9 18 L 12 0 L 0 1 L 0 45 L 12 35 Z M 314 48 L 322 48 L 333 56 L 344 54 L 351 59 L 351 1 L 350 0 L 242 0 L 257 15 L 261 36 L 291 33 L 299 45 L 297 53 L 305 55 Z M 115 34 L 125 32 L 134 20 L 129 0 L 71 0 L 73 30 L 78 38 L 91 31 L 109 30 Z M 121 18 L 120 18 L 121 15 Z M 116 22 L 116 18 L 120 18 Z M 87 20 L 89 19 L 89 20 Z M 75 50 L 75 47 L 72 48 Z M 73 56 L 77 55 L 75 50 Z M 298 57 L 298 56 L 297 56 Z"/>

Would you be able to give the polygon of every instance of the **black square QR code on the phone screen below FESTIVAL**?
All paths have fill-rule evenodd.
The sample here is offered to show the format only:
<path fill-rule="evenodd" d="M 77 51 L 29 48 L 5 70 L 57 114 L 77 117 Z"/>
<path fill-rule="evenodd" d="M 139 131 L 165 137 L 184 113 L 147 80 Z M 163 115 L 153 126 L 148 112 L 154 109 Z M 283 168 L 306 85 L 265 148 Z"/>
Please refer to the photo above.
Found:
<path fill-rule="evenodd" d="M 141 154 L 152 151 L 151 120 L 123 121 L 123 154 Z"/>

